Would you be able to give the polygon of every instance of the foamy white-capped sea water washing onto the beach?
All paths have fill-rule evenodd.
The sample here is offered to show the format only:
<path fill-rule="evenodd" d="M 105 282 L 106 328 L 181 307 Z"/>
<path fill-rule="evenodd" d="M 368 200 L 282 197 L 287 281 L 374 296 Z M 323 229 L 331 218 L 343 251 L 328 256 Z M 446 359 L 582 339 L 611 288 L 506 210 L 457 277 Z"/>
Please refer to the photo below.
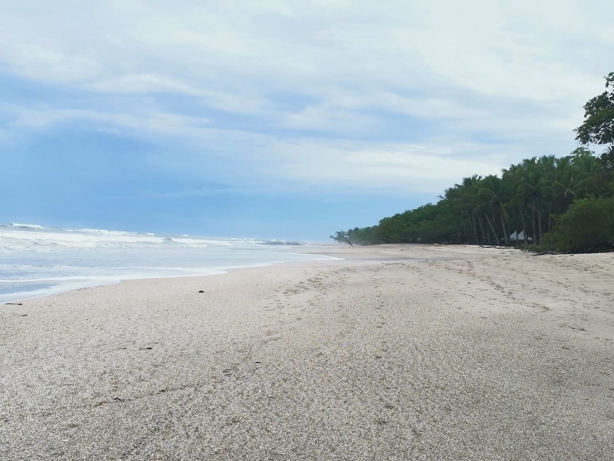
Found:
<path fill-rule="evenodd" d="M 239 267 L 337 259 L 300 242 L 0 224 L 0 303 L 131 278 L 223 274 Z"/>

